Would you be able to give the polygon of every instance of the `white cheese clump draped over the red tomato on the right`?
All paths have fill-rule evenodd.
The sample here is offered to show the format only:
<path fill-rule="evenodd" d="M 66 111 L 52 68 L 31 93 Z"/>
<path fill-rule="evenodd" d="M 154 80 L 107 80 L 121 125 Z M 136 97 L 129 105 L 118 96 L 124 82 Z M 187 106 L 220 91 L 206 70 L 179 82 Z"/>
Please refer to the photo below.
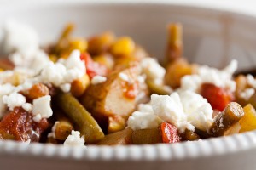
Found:
<path fill-rule="evenodd" d="M 232 80 L 232 75 L 236 71 L 237 61 L 232 60 L 223 70 L 211 68 L 207 65 L 202 65 L 198 68 L 198 73 L 195 75 L 187 75 L 181 79 L 181 90 L 191 90 L 199 92 L 203 82 L 209 82 L 215 86 L 228 88 L 231 92 L 236 90 L 236 82 Z"/>

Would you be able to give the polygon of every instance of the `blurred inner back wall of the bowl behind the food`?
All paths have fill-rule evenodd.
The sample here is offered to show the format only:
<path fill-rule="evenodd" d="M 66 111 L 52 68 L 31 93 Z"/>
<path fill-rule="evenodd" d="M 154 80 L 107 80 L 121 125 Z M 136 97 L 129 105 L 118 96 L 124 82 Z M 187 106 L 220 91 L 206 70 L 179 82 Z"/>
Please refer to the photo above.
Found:
<path fill-rule="evenodd" d="M 231 59 L 242 69 L 256 65 L 256 22 L 243 14 L 165 3 L 41 2 L 0 7 L 0 27 L 7 19 L 34 26 L 44 43 L 55 41 L 68 22 L 76 24 L 75 36 L 113 31 L 131 36 L 158 59 L 165 53 L 166 26 L 181 22 L 184 56 L 190 61 L 219 68 Z"/>

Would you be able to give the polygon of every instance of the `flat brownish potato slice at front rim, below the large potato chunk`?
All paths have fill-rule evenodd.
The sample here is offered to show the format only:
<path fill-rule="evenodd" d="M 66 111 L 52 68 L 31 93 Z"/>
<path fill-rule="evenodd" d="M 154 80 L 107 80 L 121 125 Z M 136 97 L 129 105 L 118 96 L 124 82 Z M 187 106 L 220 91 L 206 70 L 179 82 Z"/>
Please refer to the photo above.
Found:
<path fill-rule="evenodd" d="M 132 130 L 126 128 L 116 133 L 106 135 L 99 143 L 104 145 L 132 144 Z"/>

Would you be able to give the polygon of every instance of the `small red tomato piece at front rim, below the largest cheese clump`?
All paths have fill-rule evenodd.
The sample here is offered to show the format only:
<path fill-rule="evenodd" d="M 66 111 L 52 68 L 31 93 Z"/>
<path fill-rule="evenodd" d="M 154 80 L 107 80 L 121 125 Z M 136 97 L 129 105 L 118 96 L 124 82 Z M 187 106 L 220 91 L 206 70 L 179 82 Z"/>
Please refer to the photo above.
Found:
<path fill-rule="evenodd" d="M 168 122 L 162 122 L 160 124 L 160 132 L 162 135 L 163 143 L 171 144 L 181 140 L 177 132 L 177 127 Z"/>

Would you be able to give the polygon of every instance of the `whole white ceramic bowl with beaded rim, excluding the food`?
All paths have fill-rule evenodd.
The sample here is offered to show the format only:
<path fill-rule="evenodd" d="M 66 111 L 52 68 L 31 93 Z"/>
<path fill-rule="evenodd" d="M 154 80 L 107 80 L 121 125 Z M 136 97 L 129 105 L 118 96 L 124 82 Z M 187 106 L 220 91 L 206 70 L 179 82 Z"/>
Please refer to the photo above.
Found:
<path fill-rule="evenodd" d="M 256 15 L 255 15 L 256 16 Z M 230 59 L 239 68 L 256 65 L 256 17 L 210 4 L 84 1 L 30 1 L 0 5 L 0 27 L 15 18 L 36 28 L 42 42 L 54 41 L 69 21 L 76 34 L 90 36 L 110 30 L 128 35 L 162 59 L 166 25 L 184 27 L 184 55 L 201 64 L 223 67 Z M 255 169 L 256 132 L 179 144 L 88 146 L 67 148 L 49 144 L 0 142 L 1 169 Z"/>

